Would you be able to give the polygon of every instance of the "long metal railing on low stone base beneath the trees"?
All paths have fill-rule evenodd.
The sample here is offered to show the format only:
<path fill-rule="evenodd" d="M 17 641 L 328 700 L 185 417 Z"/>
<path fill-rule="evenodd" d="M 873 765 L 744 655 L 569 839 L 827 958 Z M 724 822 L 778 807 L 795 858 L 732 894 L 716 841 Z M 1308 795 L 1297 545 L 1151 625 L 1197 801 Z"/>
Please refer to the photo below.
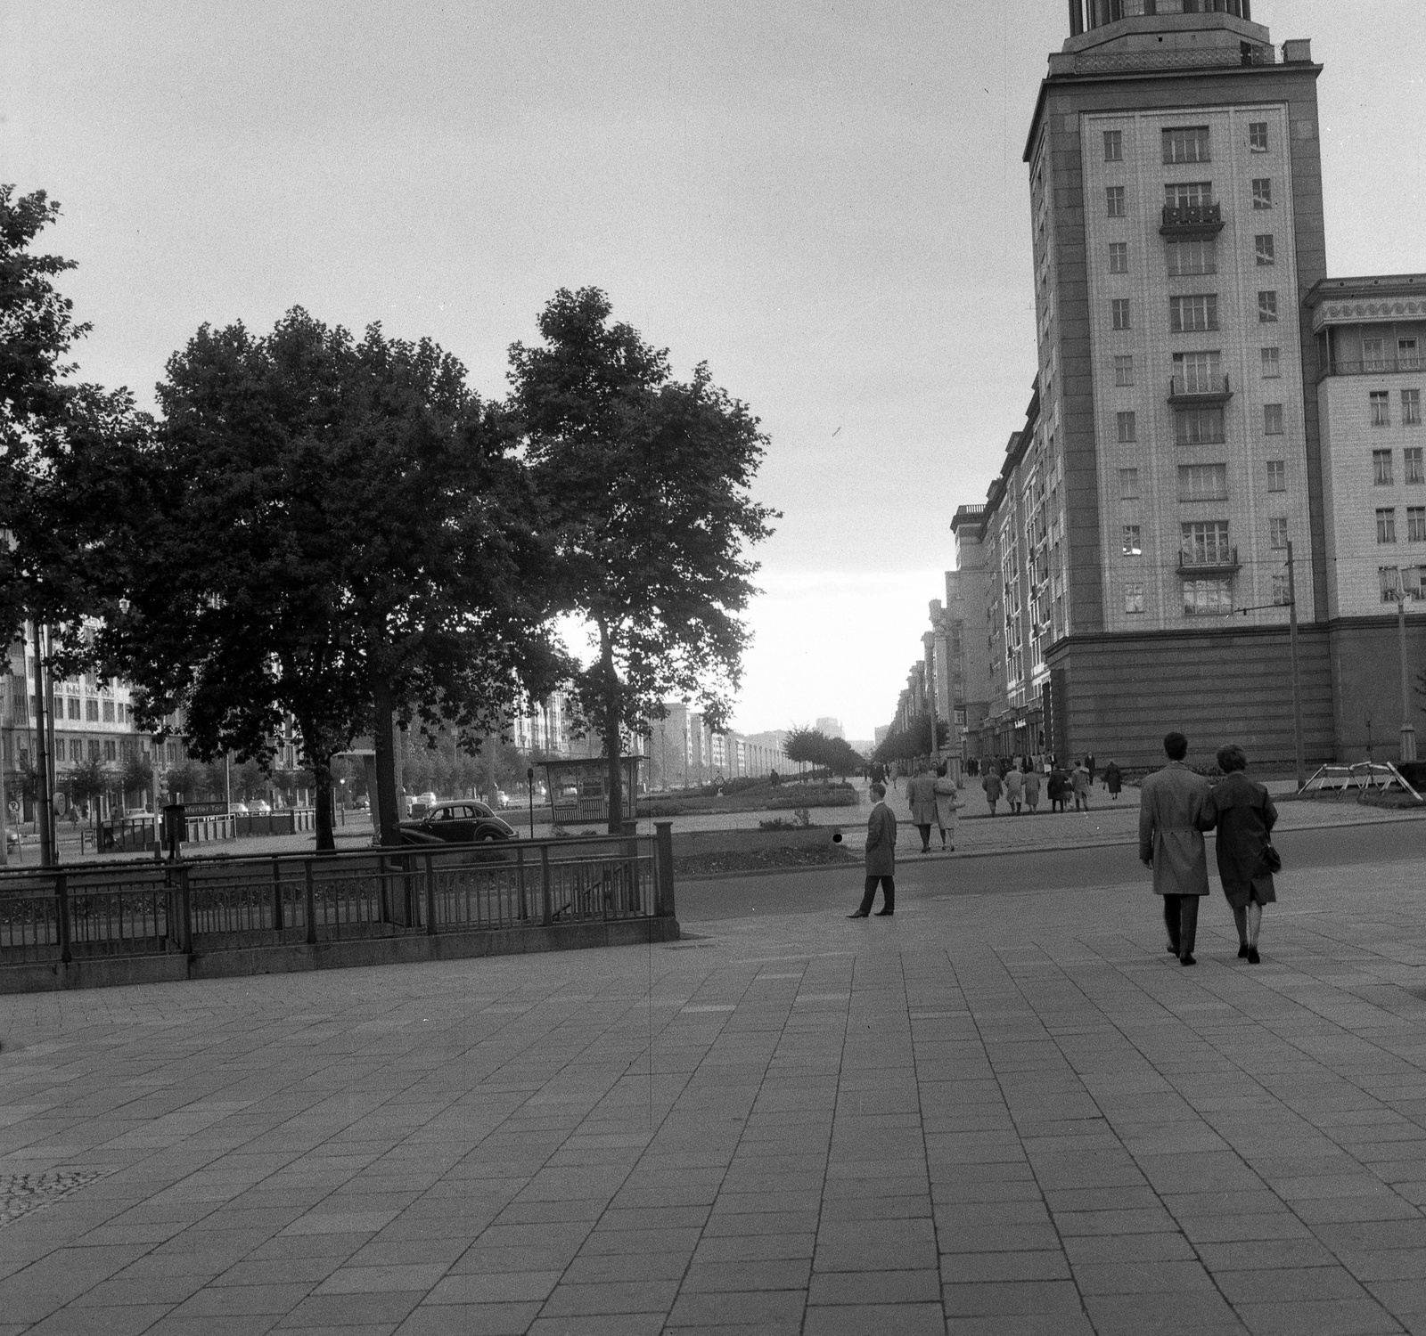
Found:
<path fill-rule="evenodd" d="M 0 873 L 0 966 L 673 914 L 670 828 Z"/>

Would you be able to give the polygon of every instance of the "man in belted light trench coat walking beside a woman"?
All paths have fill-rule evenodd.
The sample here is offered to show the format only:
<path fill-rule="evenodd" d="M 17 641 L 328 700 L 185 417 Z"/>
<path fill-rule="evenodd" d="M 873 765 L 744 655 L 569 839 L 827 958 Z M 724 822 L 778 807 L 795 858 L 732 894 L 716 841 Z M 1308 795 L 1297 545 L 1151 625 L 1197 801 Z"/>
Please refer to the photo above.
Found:
<path fill-rule="evenodd" d="M 1212 789 L 1184 758 L 1188 738 L 1164 739 L 1168 765 L 1139 785 L 1139 859 L 1154 872 L 1154 893 L 1164 897 L 1168 949 L 1181 964 L 1194 964 L 1198 902 L 1208 894 L 1204 832 L 1215 823 Z"/>

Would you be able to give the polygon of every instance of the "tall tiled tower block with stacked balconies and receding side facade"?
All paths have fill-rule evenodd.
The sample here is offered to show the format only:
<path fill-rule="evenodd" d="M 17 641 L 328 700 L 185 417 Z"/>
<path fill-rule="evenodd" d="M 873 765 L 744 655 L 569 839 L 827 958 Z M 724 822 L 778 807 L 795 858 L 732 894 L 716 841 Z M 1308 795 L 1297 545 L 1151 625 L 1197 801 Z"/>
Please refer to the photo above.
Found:
<path fill-rule="evenodd" d="M 1072 0 L 1070 27 L 1025 147 L 1037 403 L 980 534 L 1008 749 L 1142 763 L 1179 726 L 1282 759 L 1289 540 L 1299 617 L 1329 617 L 1320 66 L 1248 0 Z M 1320 637 L 1302 678 L 1328 756 Z"/>

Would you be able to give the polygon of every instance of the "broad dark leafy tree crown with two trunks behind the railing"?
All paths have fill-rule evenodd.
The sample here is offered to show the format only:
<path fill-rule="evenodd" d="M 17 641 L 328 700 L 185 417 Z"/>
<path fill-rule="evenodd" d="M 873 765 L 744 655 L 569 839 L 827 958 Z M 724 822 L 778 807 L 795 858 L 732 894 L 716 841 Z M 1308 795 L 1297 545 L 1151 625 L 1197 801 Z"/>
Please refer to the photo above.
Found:
<path fill-rule="evenodd" d="M 183 708 L 190 751 L 267 768 L 288 716 L 332 849 L 331 765 L 374 732 L 395 828 L 391 721 L 468 745 L 559 659 L 528 480 L 498 410 L 429 340 L 294 309 L 270 335 L 204 326 L 158 386 L 151 450 L 114 460 L 150 504 L 116 543 L 125 605 L 104 661 L 138 719 Z"/>

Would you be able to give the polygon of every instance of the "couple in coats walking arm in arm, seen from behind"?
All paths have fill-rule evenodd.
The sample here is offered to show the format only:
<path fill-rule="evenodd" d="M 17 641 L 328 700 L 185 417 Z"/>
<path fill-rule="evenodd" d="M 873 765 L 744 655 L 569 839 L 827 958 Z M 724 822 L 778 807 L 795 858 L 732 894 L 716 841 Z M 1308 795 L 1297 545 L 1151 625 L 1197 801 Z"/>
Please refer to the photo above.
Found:
<path fill-rule="evenodd" d="M 1168 950 L 1191 966 L 1198 940 L 1198 904 L 1208 894 L 1208 852 L 1204 832 L 1218 828 L 1218 875 L 1238 927 L 1238 956 L 1258 964 L 1262 909 L 1278 896 L 1272 875 L 1281 869 L 1272 847 L 1278 809 L 1266 788 L 1246 773 L 1241 746 L 1219 748 L 1224 779 L 1211 786 L 1184 758 L 1188 738 L 1164 739 L 1168 765 L 1139 788 L 1139 859 L 1154 873 L 1154 892 L 1164 897 Z"/>

